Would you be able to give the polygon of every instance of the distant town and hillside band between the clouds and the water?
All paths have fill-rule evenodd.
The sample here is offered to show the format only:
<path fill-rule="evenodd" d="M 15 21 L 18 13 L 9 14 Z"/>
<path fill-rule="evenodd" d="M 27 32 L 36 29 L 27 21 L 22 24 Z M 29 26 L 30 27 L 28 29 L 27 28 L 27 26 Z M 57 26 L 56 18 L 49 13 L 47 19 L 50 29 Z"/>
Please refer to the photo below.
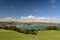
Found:
<path fill-rule="evenodd" d="M 7 26 L 7 27 L 14 27 L 14 26 L 49 26 L 49 25 L 60 25 L 60 23 L 44 23 L 44 22 L 0 22 L 0 27 Z"/>

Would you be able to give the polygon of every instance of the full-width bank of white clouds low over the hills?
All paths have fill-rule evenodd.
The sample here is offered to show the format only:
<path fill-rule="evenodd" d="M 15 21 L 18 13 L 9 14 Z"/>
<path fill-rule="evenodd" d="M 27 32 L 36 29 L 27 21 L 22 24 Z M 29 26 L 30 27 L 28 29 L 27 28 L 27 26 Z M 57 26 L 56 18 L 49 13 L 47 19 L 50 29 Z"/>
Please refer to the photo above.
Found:
<path fill-rule="evenodd" d="M 18 21 L 18 22 L 56 22 L 60 23 L 60 17 L 36 17 L 36 16 L 23 16 L 20 18 L 6 17 L 0 18 L 0 21 Z"/>

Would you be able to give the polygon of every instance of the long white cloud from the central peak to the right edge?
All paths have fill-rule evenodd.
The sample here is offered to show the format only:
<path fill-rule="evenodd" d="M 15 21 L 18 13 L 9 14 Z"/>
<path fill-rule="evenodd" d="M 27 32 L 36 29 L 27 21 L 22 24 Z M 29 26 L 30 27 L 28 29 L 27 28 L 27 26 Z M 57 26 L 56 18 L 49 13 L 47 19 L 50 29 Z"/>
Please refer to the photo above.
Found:
<path fill-rule="evenodd" d="M 35 17 L 35 16 L 27 16 L 27 17 L 21 17 L 21 22 L 57 22 L 57 20 L 60 20 L 58 17 Z"/>

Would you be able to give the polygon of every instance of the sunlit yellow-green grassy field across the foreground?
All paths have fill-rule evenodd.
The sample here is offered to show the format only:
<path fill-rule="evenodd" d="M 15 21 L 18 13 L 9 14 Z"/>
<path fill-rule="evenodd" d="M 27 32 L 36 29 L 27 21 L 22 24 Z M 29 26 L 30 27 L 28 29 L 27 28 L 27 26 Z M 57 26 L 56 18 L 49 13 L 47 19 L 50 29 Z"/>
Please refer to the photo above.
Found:
<path fill-rule="evenodd" d="M 0 29 L 0 40 L 60 40 L 60 31 L 39 31 L 37 35 Z"/>

